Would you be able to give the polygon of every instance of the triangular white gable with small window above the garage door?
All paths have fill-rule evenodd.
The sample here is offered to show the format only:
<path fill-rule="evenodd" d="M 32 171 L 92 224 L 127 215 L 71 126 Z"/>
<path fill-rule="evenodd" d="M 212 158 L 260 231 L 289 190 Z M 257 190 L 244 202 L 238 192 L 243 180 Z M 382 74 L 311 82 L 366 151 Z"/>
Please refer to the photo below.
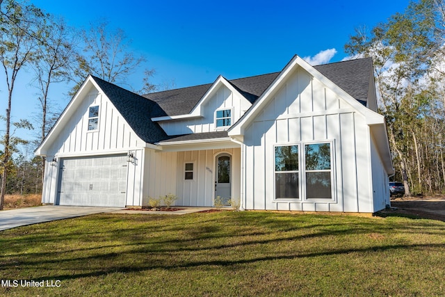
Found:
<path fill-rule="evenodd" d="M 95 115 L 90 108 L 97 111 Z M 58 118 L 35 154 L 83 154 L 145 146 L 106 94 L 91 78 Z"/>

